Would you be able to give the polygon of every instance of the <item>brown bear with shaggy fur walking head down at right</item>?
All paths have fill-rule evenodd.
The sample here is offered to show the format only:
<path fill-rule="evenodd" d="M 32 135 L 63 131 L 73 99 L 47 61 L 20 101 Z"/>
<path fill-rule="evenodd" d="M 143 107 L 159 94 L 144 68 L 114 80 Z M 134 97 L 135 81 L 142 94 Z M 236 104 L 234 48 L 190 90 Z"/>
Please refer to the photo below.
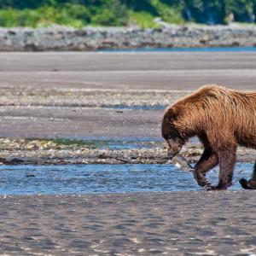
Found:
<path fill-rule="evenodd" d="M 204 152 L 193 170 L 197 183 L 207 189 L 227 189 L 232 183 L 237 145 L 256 149 L 256 92 L 206 85 L 166 109 L 161 132 L 170 157 L 189 137 L 199 137 Z M 217 165 L 218 185 L 214 187 L 206 173 Z M 245 189 L 256 189 L 256 162 L 252 179 L 240 183 Z"/>

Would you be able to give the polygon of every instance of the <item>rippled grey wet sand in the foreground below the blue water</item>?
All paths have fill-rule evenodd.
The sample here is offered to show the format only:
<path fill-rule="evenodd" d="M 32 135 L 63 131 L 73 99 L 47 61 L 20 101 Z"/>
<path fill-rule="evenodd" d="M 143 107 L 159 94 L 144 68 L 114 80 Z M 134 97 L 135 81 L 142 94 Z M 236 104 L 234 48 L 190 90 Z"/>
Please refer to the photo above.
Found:
<path fill-rule="evenodd" d="M 7 255 L 254 255 L 255 192 L 1 196 Z"/>

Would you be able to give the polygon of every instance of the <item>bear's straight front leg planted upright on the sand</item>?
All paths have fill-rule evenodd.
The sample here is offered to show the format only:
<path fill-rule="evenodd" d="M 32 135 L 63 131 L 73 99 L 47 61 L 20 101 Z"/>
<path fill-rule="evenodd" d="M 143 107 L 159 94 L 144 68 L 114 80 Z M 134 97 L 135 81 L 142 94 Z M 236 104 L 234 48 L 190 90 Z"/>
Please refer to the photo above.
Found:
<path fill-rule="evenodd" d="M 211 190 L 228 189 L 232 184 L 233 172 L 236 163 L 236 145 L 229 144 L 225 150 L 218 152 L 219 173 L 218 185 Z"/>

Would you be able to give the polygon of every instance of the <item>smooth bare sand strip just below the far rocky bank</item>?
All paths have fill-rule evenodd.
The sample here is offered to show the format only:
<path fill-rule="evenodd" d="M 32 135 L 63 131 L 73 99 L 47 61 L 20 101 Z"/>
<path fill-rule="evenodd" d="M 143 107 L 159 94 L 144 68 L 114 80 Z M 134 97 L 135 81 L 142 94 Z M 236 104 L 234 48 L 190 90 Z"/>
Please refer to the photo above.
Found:
<path fill-rule="evenodd" d="M 256 78 L 256 52 L 0 53 L 0 60 L 0 87 L 253 90 Z"/>

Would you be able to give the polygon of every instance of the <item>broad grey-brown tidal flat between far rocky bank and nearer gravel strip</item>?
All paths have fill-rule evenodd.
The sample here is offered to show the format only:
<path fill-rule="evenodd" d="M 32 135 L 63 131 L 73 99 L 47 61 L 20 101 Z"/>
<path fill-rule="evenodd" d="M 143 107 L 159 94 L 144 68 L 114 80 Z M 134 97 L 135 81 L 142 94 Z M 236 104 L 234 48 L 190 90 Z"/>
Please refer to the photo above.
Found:
<path fill-rule="evenodd" d="M 256 52 L 0 53 L 0 60 L 2 137 L 160 137 L 162 110 L 102 106 L 164 107 L 203 84 L 255 90 L 256 81 Z"/>

